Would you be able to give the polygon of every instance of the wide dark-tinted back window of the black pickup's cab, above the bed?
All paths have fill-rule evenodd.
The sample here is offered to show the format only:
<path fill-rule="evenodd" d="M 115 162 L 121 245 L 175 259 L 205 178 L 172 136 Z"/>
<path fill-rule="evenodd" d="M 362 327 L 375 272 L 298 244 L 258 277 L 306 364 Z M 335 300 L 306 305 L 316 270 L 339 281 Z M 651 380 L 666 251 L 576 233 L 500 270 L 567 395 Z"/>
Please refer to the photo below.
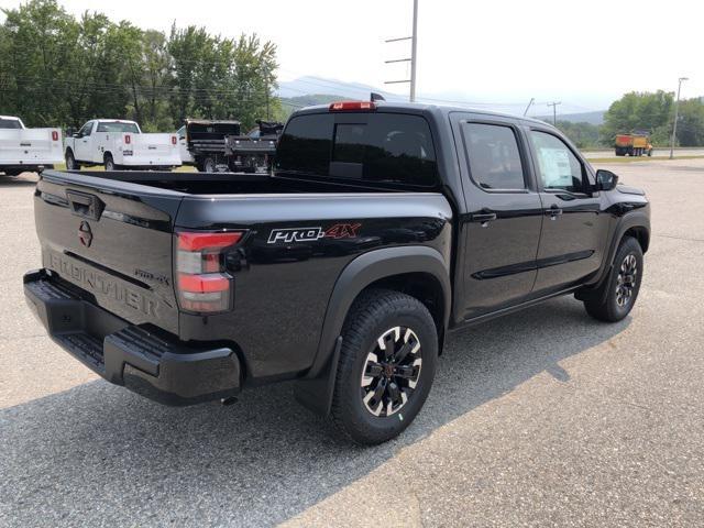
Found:
<path fill-rule="evenodd" d="M 428 122 L 395 113 L 298 116 L 278 144 L 279 170 L 329 178 L 435 186 L 436 153 Z"/>

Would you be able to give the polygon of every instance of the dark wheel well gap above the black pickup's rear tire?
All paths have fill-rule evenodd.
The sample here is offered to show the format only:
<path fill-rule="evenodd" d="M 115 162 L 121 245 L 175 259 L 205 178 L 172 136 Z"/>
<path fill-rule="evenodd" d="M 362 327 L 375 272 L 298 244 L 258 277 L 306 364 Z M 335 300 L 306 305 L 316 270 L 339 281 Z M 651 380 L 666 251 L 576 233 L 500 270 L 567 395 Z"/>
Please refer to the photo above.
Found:
<path fill-rule="evenodd" d="M 380 278 L 367 285 L 359 295 L 372 288 L 393 289 L 395 292 L 402 292 L 406 295 L 417 298 L 422 302 L 432 319 L 436 322 L 438 329 L 438 342 L 439 351 L 442 352 L 442 342 L 444 340 L 444 296 L 442 293 L 442 285 L 430 273 L 403 273 L 399 275 L 392 275 L 388 277 Z M 359 297 L 358 295 L 358 297 Z"/>

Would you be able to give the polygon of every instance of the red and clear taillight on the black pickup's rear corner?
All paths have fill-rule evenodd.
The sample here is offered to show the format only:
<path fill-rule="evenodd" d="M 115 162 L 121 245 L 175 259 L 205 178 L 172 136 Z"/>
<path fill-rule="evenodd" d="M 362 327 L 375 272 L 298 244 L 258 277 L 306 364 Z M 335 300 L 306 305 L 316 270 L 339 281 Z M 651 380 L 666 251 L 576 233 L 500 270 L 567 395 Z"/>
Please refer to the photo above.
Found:
<path fill-rule="evenodd" d="M 242 235 L 241 231 L 177 234 L 176 290 L 182 309 L 212 314 L 232 307 L 233 279 L 226 273 L 224 256 Z"/>

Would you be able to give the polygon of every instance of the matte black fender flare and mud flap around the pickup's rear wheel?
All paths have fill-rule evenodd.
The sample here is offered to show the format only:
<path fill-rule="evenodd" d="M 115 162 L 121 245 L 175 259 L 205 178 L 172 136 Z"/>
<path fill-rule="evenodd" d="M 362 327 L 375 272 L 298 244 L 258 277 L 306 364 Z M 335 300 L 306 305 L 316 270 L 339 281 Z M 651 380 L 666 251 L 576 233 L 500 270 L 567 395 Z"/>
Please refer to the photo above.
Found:
<path fill-rule="evenodd" d="M 345 266 L 332 288 L 312 365 L 294 388 L 298 402 L 317 414 L 327 416 L 330 413 L 342 326 L 352 302 L 370 284 L 406 273 L 427 273 L 438 280 L 444 301 L 442 329 L 448 328 L 452 286 L 449 263 L 440 252 L 425 245 L 405 245 L 364 253 Z"/>

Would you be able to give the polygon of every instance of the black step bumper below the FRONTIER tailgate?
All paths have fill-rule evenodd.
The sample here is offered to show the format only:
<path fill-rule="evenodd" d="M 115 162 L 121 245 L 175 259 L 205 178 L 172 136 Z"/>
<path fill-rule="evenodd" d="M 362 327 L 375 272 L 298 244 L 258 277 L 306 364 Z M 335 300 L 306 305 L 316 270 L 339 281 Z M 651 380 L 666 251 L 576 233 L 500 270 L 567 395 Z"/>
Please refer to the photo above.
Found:
<path fill-rule="evenodd" d="M 24 296 L 50 337 L 111 383 L 176 406 L 240 391 L 240 361 L 229 348 L 196 349 L 132 326 L 45 270 L 24 275 Z"/>

